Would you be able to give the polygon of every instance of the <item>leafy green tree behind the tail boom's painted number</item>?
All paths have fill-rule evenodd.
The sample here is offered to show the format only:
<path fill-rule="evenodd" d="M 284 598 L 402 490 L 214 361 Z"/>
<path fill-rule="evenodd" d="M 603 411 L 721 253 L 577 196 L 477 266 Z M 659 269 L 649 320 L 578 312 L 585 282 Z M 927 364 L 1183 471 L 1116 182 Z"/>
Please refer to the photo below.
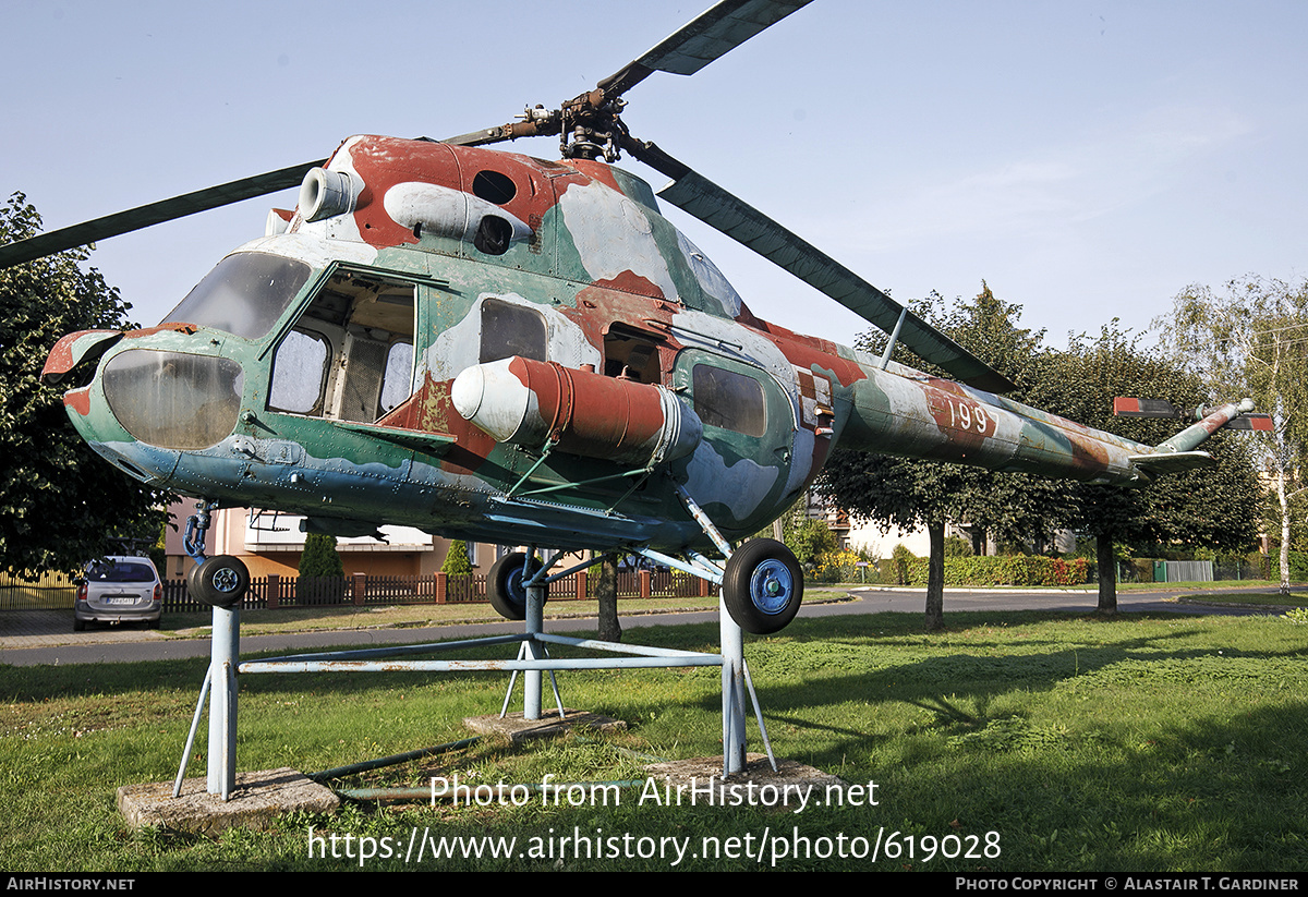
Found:
<path fill-rule="evenodd" d="M 1022 310 L 998 299 L 982 281 L 971 302 L 944 310 L 933 293 L 916 311 L 1018 386 L 1023 396 L 1040 373 L 1042 332 L 1018 326 Z M 861 348 L 880 352 L 886 337 L 866 335 Z M 899 349 L 897 349 L 899 350 Z M 929 370 L 908 353 L 904 364 Z M 925 527 L 927 556 L 926 626 L 944 626 L 944 524 L 968 520 L 1001 539 L 1044 535 L 1061 519 L 1058 484 L 1015 473 L 995 473 L 959 464 L 910 460 L 886 455 L 835 451 L 819 488 L 846 511 L 871 518 L 884 527 Z"/>

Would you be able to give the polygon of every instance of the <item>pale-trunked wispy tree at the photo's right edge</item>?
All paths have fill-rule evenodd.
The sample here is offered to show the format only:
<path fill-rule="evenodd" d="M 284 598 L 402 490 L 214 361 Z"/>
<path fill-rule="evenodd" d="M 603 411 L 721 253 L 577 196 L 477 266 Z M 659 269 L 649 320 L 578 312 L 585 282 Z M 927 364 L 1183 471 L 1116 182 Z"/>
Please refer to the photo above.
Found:
<path fill-rule="evenodd" d="M 1271 415 L 1273 432 L 1250 441 L 1267 475 L 1281 530 L 1281 591 L 1290 592 L 1292 502 L 1304 494 L 1308 463 L 1308 281 L 1245 276 L 1224 294 L 1192 285 L 1172 315 L 1155 322 L 1176 361 L 1205 387 L 1209 401 L 1250 398 Z"/>

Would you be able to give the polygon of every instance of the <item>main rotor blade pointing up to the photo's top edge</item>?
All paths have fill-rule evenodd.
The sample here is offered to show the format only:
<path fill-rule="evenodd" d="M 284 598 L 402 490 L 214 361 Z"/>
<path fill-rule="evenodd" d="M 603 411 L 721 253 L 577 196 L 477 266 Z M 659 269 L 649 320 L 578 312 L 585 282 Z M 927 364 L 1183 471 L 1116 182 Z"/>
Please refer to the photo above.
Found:
<path fill-rule="evenodd" d="M 811 0 L 722 0 L 644 56 L 600 81 L 599 86 L 610 97 L 617 97 L 651 72 L 695 75 L 808 3 Z"/>

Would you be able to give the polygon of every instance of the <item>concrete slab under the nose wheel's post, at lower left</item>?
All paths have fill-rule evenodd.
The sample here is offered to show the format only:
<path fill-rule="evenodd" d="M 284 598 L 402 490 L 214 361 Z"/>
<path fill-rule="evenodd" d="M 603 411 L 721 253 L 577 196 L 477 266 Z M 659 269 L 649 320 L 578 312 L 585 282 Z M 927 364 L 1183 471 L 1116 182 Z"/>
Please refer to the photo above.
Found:
<path fill-rule="evenodd" d="M 182 794 L 173 796 L 171 782 L 124 785 L 118 790 L 118 809 L 129 825 L 160 825 L 177 832 L 216 836 L 233 826 L 263 829 L 276 816 L 297 809 L 328 813 L 340 799 L 294 769 L 237 773 L 230 800 L 208 794 L 207 779 L 182 781 Z"/>

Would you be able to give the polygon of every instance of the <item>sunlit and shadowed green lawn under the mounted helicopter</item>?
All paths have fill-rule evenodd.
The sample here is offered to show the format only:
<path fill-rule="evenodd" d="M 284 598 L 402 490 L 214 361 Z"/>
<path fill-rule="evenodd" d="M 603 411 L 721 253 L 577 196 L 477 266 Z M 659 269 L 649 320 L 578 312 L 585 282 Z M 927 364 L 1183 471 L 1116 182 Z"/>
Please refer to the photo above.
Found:
<path fill-rule="evenodd" d="M 954 613 L 923 634 L 920 615 L 799 620 L 749 638 L 747 658 L 778 757 L 848 782 L 875 781 L 875 807 L 637 805 L 458 808 L 348 805 L 217 841 L 129 830 L 120 785 L 170 781 L 203 662 L 0 667 L 0 855 L 13 871 L 330 870 L 307 830 L 408 838 L 494 834 L 773 834 L 977 838 L 998 856 L 882 859 L 883 870 L 1303 871 L 1308 868 L 1308 629 L 1283 617 L 1042 612 Z M 640 633 L 713 650 L 717 628 Z M 242 770 L 314 771 L 466 737 L 460 720 L 496 713 L 492 673 L 247 675 Z M 345 786 L 641 777 L 615 748 L 670 758 L 721 753 L 717 669 L 560 673 L 569 706 L 629 723 L 620 736 L 476 748 L 356 777 Z M 751 748 L 756 749 L 751 722 Z M 191 774 L 201 775 L 201 756 Z M 917 849 L 921 850 L 918 842 Z M 927 842 L 929 843 L 929 842 Z M 906 851 L 905 851 L 906 854 Z M 766 866 L 766 863 L 764 863 Z M 374 860 L 369 868 L 402 868 Z M 666 870 L 666 860 L 442 860 L 425 868 Z M 687 859 L 679 868 L 761 868 Z M 787 870 L 872 868 L 870 860 L 787 859 Z"/>

